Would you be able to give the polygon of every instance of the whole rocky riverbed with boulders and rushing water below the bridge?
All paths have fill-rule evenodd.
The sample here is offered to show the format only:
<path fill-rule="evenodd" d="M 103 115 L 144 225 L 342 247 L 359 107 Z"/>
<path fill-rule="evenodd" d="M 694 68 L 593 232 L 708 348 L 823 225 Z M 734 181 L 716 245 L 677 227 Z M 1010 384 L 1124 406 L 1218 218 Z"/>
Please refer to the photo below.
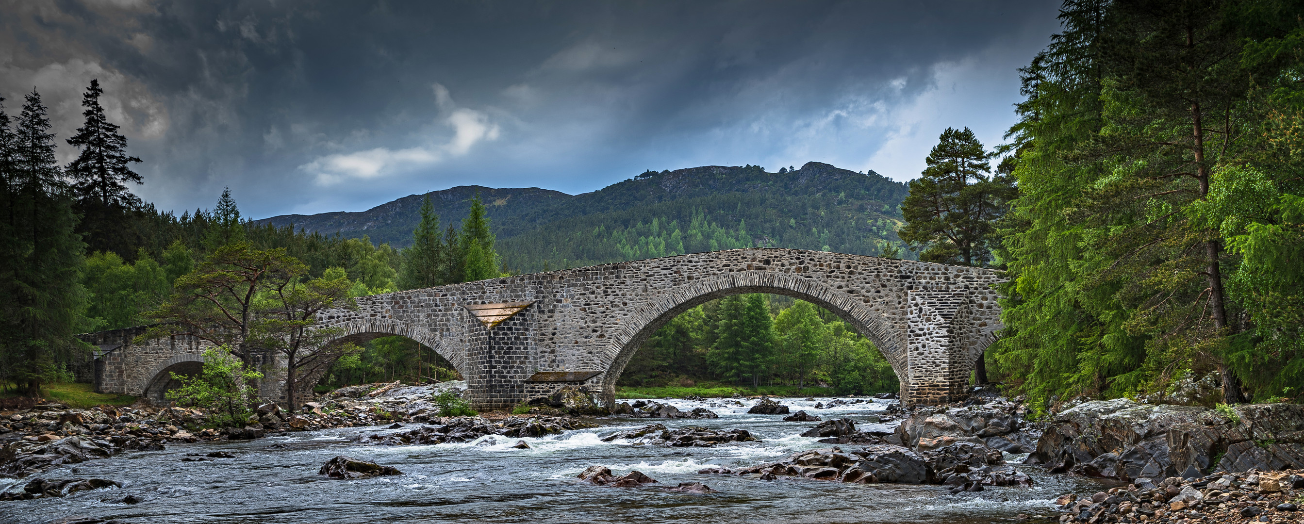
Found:
<path fill-rule="evenodd" d="M 455 497 L 493 501 L 485 508 L 492 507 L 496 515 L 506 511 L 531 515 L 529 520 L 566 520 L 562 515 L 572 515 L 584 507 L 580 501 L 595 495 L 571 493 L 566 484 L 554 482 L 584 477 L 589 471 L 588 477 L 597 480 L 582 485 L 627 488 L 592 499 L 599 504 L 592 511 L 610 504 L 630 508 L 629 519 L 623 514 L 604 517 L 617 521 L 639 521 L 638 515 L 672 521 L 700 521 L 708 515 L 756 520 L 756 501 L 788 508 L 784 519 L 768 519 L 775 521 L 818 516 L 822 521 L 966 523 L 1026 516 L 1194 524 L 1244 523 L 1265 515 L 1266 521 L 1301 521 L 1300 514 L 1288 508 L 1297 503 L 1292 501 L 1299 497 L 1299 472 L 1267 471 L 1278 464 L 1290 467 L 1290 460 L 1300 456 L 1292 446 L 1304 425 L 1297 424 L 1297 407 L 1286 404 L 1239 407 L 1228 416 L 1204 408 L 1078 403 L 1030 422 L 1021 403 L 1000 398 L 914 409 L 901 409 L 889 399 L 644 399 L 618 403 L 614 415 L 605 415 L 593 395 L 571 390 L 535 403 L 531 415 L 439 417 L 433 404 L 439 390 L 402 385 L 346 388 L 318 398 L 297 415 L 263 407 L 246 426 L 220 431 L 200 430 L 203 413 L 176 408 L 68 409 L 44 404 L 0 413 L 0 428 L 5 429 L 0 442 L 9 452 L 4 467 L 10 477 L 26 477 L 0 480 L 0 499 L 8 501 L 3 504 L 43 504 L 34 507 L 51 511 L 50 517 L 17 521 L 48 523 L 74 514 L 163 521 L 190 511 L 168 502 L 177 491 L 175 482 L 167 481 L 193 478 L 214 488 L 186 493 L 216 489 L 211 498 L 203 498 L 205 507 L 230 506 L 214 508 L 215 515 L 226 511 L 245 515 L 243 521 L 297 521 L 317 517 L 304 508 L 267 512 L 271 501 L 249 499 L 236 485 L 280 486 L 284 493 L 279 501 L 296 494 L 316 497 L 308 488 L 312 478 L 346 478 L 333 484 L 333 497 L 379 497 L 399 504 L 394 508 L 425 508 L 383 510 L 365 519 L 352 514 L 353 506 L 347 503 L 338 508 L 363 519 L 359 521 L 403 520 L 400 515 L 482 520 L 482 514 L 454 511 L 460 504 Z M 1138 460 L 1138 448 L 1148 454 L 1145 460 Z M 1134 464 L 1161 472 L 1194 464 L 1198 474 L 1138 477 L 1134 473 L 1145 467 Z M 1249 468 L 1227 469 L 1241 464 Z M 1256 467 L 1258 471 L 1251 471 Z M 184 473 L 192 469 L 193 474 Z M 652 477 L 659 482 L 649 482 Z M 460 482 L 485 484 L 466 490 Z M 231 490 L 216 488 L 227 484 Z M 299 485 L 308 491 L 293 488 Z M 447 502 L 430 506 L 434 493 L 403 486 L 438 488 L 434 501 Z M 1200 491 L 1198 502 L 1189 490 Z M 657 502 L 657 497 L 674 495 L 700 498 L 675 507 L 705 512 L 692 516 L 692 511 L 665 510 Z M 516 497 L 572 512 L 553 515 L 512 502 Z M 412 506 L 417 499 L 421 502 Z M 1176 502 L 1180 504 L 1174 506 Z M 640 507 L 662 511 L 643 514 Z M 1241 520 L 1210 520 L 1235 517 Z"/>

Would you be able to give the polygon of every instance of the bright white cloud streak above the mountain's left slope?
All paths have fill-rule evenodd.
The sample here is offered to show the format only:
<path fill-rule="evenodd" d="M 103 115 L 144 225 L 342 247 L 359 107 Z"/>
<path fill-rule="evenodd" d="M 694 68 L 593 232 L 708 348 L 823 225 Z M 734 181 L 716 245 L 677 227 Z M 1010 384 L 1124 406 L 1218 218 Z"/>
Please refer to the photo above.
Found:
<path fill-rule="evenodd" d="M 462 156 L 472 146 L 498 139 L 499 126 L 489 121 L 484 112 L 456 107 L 449 90 L 434 83 L 434 102 L 447 112 L 443 124 L 452 128 L 452 137 L 443 142 L 430 142 L 407 149 L 374 147 L 365 151 L 331 154 L 299 166 L 313 175 L 318 185 L 334 185 L 346 180 L 370 180 L 393 173 L 430 167 L 447 158 Z"/>

